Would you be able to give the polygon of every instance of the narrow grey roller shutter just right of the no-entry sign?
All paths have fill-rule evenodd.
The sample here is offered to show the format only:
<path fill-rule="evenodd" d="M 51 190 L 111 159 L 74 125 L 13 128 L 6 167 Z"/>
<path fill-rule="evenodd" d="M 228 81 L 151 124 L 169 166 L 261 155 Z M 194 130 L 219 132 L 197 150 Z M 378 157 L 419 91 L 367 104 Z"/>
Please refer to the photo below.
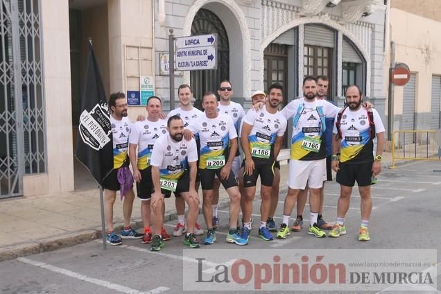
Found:
<path fill-rule="evenodd" d="M 404 86 L 401 130 L 415 130 L 415 82 L 416 74 L 410 74 L 410 80 Z M 405 139 L 406 144 L 414 142 L 412 134 L 406 134 Z"/>

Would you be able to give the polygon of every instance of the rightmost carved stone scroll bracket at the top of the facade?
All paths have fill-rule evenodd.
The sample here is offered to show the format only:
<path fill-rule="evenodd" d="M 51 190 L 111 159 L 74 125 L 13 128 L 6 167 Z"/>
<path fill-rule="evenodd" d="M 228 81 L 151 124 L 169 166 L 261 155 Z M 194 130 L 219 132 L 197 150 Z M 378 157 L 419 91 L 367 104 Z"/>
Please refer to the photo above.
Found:
<path fill-rule="evenodd" d="M 353 0 L 342 4 L 342 18 L 346 23 L 358 21 L 363 16 L 370 15 L 377 10 L 386 10 L 386 6 L 379 0 Z"/>

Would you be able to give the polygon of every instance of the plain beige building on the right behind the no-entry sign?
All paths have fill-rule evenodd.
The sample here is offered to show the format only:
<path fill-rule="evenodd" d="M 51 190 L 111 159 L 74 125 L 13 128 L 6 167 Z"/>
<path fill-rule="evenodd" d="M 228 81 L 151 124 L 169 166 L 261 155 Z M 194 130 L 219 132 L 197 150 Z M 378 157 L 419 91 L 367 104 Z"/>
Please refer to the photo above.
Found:
<path fill-rule="evenodd" d="M 441 6 L 438 1 L 390 2 L 390 25 L 384 60 L 385 93 L 389 92 L 390 132 L 441 128 Z M 410 80 L 404 86 L 389 84 L 388 69 L 407 64 Z M 408 135 L 408 142 L 415 139 Z"/>

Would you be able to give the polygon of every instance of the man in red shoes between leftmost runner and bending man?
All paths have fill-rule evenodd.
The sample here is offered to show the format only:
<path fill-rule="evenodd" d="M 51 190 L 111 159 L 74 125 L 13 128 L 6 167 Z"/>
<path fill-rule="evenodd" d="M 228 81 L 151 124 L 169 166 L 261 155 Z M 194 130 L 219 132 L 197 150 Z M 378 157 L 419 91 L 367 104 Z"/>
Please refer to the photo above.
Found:
<path fill-rule="evenodd" d="M 137 182 L 138 198 L 141 200 L 141 218 L 144 223 L 142 243 L 152 242 L 150 229 L 150 196 L 153 191 L 152 167 L 150 166 L 153 144 L 167 132 L 167 121 L 159 119 L 162 113 L 162 101 L 157 96 L 148 98 L 147 119 L 137 121 L 132 126 L 129 137 L 129 157 L 132 163 L 133 178 Z M 138 149 L 138 153 L 137 153 Z M 166 230 L 161 230 L 162 240 L 170 240 Z"/>

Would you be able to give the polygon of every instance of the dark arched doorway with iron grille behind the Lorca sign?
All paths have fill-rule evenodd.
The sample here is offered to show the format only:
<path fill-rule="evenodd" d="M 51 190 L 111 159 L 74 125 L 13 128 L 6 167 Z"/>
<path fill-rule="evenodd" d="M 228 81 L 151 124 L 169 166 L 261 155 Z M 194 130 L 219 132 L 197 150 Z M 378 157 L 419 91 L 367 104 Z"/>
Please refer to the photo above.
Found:
<path fill-rule="evenodd" d="M 227 30 L 222 21 L 213 12 L 200 9 L 191 24 L 191 35 L 218 34 L 218 68 L 190 72 L 190 84 L 196 99 L 202 99 L 207 91 L 216 91 L 221 80 L 230 78 L 230 44 Z M 195 106 L 200 108 L 200 101 Z"/>

